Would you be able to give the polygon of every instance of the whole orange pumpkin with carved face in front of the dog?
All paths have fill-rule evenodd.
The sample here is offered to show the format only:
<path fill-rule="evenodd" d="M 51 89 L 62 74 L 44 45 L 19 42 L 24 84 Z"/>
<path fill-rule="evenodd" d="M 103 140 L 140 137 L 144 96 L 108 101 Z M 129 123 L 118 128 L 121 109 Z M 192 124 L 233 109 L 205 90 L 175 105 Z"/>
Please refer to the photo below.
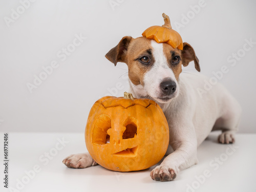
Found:
<path fill-rule="evenodd" d="M 90 111 L 85 139 L 101 166 L 119 172 L 142 170 L 166 153 L 169 129 L 160 106 L 150 99 L 106 96 Z"/>

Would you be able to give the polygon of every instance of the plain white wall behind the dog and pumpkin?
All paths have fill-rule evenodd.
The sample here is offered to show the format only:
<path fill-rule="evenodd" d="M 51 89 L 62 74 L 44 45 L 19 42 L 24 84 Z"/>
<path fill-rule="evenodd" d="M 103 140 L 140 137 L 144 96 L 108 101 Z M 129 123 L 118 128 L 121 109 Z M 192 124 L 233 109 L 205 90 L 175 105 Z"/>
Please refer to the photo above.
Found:
<path fill-rule="evenodd" d="M 194 15 L 190 6 L 199 1 L 115 0 L 120 2 L 115 7 L 110 2 L 36 1 L 8 27 L 6 17 L 21 4 L 0 1 L 1 131 L 83 132 L 98 98 L 129 90 L 126 65 L 114 67 L 104 55 L 123 36 L 139 37 L 146 28 L 163 25 L 164 12 L 183 41 L 194 47 L 201 73 L 212 77 L 212 72 L 228 67 L 220 82 L 242 105 L 239 132 L 256 133 L 256 45 L 244 51 L 236 66 L 227 62 L 232 53 L 242 53 L 245 39 L 256 41 L 255 1 L 206 0 Z M 175 23 L 184 24 L 184 15 L 191 18 L 178 29 Z M 76 34 L 87 39 L 61 61 L 57 53 L 72 44 Z M 54 60 L 58 68 L 30 93 L 27 83 Z M 194 64 L 187 69 L 194 70 Z"/>

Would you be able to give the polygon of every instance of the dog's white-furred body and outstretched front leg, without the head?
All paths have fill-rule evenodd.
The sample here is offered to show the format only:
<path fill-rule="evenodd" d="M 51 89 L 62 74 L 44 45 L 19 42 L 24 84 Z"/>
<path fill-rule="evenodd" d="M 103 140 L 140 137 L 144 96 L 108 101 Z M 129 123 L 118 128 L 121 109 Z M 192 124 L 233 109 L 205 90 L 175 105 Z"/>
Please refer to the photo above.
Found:
<path fill-rule="evenodd" d="M 240 105 L 221 84 L 216 84 L 201 98 L 196 89 L 203 89 L 204 79 L 207 78 L 198 74 L 180 74 L 178 97 L 166 104 L 159 103 L 169 123 L 170 145 L 174 152 L 152 170 L 152 179 L 162 178 L 159 173 L 164 173 L 166 167 L 177 174 L 180 169 L 197 164 L 197 147 L 212 128 L 223 129 L 220 142 L 233 142 L 240 121 Z M 217 119 L 222 120 L 216 123 Z M 169 176 L 168 180 L 173 178 Z"/>

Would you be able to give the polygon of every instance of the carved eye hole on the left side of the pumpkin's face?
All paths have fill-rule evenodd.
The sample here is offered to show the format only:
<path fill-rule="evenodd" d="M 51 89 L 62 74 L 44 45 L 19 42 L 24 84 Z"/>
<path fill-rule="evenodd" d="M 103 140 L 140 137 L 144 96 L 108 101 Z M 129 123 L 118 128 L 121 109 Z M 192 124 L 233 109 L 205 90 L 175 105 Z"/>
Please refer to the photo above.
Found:
<path fill-rule="evenodd" d="M 109 129 L 111 129 L 111 117 L 105 114 L 100 115 L 93 129 L 92 142 L 100 145 L 109 143 Z"/>

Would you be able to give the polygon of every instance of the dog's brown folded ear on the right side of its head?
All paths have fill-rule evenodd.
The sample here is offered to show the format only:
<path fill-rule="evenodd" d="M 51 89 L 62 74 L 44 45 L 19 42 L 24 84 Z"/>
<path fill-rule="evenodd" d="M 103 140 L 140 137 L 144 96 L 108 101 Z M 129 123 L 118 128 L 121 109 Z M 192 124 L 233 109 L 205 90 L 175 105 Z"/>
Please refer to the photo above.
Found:
<path fill-rule="evenodd" d="M 195 68 L 200 72 L 199 59 L 197 58 L 193 47 L 191 47 L 187 42 L 183 42 L 183 50 L 181 51 L 182 65 L 184 67 L 188 66 L 190 61 L 195 62 Z"/>

